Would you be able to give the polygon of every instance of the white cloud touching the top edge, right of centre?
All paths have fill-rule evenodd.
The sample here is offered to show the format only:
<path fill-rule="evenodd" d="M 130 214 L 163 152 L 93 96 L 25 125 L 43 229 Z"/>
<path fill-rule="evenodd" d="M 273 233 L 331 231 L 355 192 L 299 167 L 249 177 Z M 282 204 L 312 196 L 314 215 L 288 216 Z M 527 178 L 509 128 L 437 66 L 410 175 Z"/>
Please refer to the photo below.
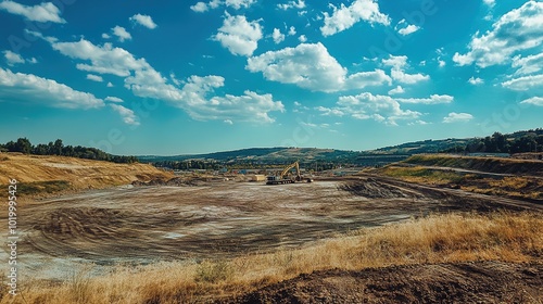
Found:
<path fill-rule="evenodd" d="M 332 8 L 333 13 L 331 15 L 327 12 L 324 13 L 325 25 L 320 27 L 323 36 L 334 35 L 351 28 L 355 23 L 361 21 L 370 24 L 390 25 L 389 16 L 379 11 L 379 4 L 374 0 L 355 0 L 349 7 L 341 3 L 339 9 L 333 5 Z"/>

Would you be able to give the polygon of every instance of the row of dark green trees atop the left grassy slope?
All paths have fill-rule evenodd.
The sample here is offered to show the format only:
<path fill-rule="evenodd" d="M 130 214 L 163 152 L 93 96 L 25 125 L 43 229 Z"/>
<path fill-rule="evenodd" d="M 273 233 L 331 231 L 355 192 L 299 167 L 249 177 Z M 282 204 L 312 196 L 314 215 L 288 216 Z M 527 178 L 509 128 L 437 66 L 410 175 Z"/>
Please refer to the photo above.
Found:
<path fill-rule="evenodd" d="M 71 156 L 122 164 L 131 164 L 138 162 L 138 159 L 136 156 L 113 155 L 110 153 L 105 153 L 100 149 L 81 145 L 64 145 L 61 139 L 56 139 L 54 142 L 50 141 L 47 144 L 38 143 L 34 145 L 27 138 L 20 138 L 17 139 L 17 141 L 9 141 L 4 144 L 0 144 L 0 151 L 21 152 L 24 154 L 35 155 Z"/>

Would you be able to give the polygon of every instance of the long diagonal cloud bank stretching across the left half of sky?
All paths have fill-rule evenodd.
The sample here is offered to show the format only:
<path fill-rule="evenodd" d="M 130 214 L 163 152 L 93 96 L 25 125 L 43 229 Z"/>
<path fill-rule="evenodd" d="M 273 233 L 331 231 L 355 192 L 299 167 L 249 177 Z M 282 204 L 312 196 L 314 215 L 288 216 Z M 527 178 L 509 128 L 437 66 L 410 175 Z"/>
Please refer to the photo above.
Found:
<path fill-rule="evenodd" d="M 179 88 L 168 84 L 167 78 L 144 59 L 136 59 L 111 43 L 96 46 L 81 38 L 76 42 L 53 42 L 52 47 L 64 55 L 85 62 L 78 63 L 77 68 L 123 77 L 125 88 L 135 96 L 169 102 L 194 119 L 273 123 L 275 118 L 269 116 L 270 112 L 285 111 L 283 104 L 275 101 L 272 94 L 245 90 L 241 96 L 216 96 L 214 91 L 225 83 L 220 76 L 191 76 Z"/>

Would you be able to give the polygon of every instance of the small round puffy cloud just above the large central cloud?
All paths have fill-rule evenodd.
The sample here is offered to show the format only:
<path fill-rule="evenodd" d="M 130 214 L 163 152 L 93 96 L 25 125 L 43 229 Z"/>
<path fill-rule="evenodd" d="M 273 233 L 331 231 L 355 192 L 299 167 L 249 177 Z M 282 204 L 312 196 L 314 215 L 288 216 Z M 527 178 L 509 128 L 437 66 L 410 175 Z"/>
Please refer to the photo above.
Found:
<path fill-rule="evenodd" d="M 243 15 L 231 16 L 227 13 L 223 26 L 213 39 L 235 55 L 250 56 L 262 39 L 262 27 L 257 21 L 248 22 Z"/>

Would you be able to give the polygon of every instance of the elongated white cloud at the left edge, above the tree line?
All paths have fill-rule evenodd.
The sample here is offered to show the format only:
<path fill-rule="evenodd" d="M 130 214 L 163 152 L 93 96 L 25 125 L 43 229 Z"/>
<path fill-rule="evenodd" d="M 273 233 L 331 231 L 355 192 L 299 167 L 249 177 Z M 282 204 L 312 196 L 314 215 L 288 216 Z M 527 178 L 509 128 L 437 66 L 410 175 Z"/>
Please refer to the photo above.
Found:
<path fill-rule="evenodd" d="M 0 99 L 36 101 L 43 105 L 66 109 L 92 109 L 104 105 L 103 100 L 55 80 L 33 74 L 13 73 L 0 67 Z"/>

